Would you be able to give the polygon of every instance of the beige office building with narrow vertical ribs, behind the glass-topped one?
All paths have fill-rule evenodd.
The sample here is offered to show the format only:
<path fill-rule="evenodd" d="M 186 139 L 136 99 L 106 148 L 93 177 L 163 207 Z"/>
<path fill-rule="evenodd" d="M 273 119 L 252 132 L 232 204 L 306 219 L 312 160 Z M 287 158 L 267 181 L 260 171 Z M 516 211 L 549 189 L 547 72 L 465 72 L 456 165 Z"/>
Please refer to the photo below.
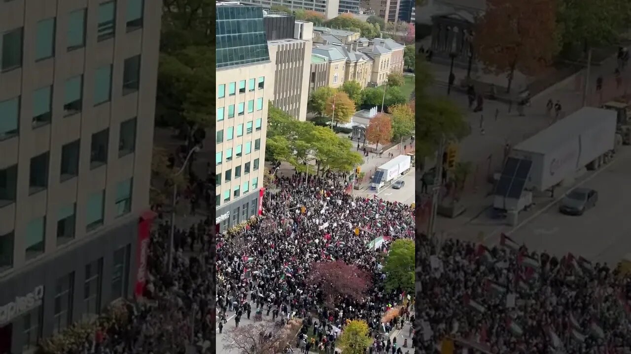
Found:
<path fill-rule="evenodd" d="M 264 14 L 263 21 L 269 59 L 274 64 L 273 104 L 298 120 L 306 120 L 313 23 L 271 11 Z"/>

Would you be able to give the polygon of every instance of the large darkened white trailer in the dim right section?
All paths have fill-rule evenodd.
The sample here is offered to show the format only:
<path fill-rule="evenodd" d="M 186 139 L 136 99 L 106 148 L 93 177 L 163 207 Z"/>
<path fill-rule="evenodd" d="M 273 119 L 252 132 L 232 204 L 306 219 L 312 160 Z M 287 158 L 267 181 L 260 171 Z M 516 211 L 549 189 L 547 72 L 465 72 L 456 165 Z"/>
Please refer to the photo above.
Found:
<path fill-rule="evenodd" d="M 599 168 L 615 148 L 616 116 L 616 111 L 584 107 L 515 146 L 511 157 L 533 161 L 526 188 L 545 191 L 582 168 Z"/>

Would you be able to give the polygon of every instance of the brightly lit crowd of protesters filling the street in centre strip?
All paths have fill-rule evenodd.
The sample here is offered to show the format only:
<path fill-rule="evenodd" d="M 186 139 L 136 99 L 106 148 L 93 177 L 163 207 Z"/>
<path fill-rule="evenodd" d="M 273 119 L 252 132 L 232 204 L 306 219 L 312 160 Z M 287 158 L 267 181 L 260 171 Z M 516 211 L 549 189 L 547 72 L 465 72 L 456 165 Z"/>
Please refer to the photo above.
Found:
<path fill-rule="evenodd" d="M 378 346 L 379 352 L 386 346 L 391 350 L 384 334 L 406 319 L 413 321 L 413 316 L 411 302 L 406 300 L 404 316 L 396 323 L 381 324 L 384 312 L 402 305 L 406 296 L 385 290 L 379 260 L 390 242 L 414 237 L 413 210 L 410 205 L 379 198 L 353 197 L 347 181 L 333 173 L 308 180 L 300 174 L 277 178 L 276 191 L 265 198 L 264 215 L 257 222 L 216 236 L 222 327 L 228 311 L 235 312 L 237 326 L 241 316 L 261 316 L 281 324 L 299 318 L 304 327 L 294 344 L 303 350 L 333 353 L 346 321 L 363 319 L 375 338 L 375 350 Z M 383 241 L 369 245 L 377 237 Z M 357 265 L 372 275 L 374 286 L 362 300 L 341 297 L 326 305 L 321 288 L 307 282 L 314 262 L 334 260 Z"/>

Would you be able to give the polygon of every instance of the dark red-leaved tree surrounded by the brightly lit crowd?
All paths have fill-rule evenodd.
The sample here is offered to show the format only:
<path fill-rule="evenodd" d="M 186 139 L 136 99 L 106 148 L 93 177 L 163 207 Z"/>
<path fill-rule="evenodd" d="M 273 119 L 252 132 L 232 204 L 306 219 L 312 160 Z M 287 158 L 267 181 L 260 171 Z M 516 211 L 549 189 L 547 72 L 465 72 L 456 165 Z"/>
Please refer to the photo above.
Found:
<path fill-rule="evenodd" d="M 314 263 L 307 281 L 319 285 L 327 305 L 334 305 L 342 297 L 360 300 L 372 286 L 367 271 L 343 261 Z"/>

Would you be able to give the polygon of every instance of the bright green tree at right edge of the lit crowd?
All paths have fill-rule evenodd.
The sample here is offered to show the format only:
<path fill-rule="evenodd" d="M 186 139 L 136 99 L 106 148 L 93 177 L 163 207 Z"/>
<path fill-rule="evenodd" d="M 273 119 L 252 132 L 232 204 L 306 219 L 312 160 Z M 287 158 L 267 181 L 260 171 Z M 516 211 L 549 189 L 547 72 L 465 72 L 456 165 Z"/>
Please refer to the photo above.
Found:
<path fill-rule="evenodd" d="M 415 289 L 415 245 L 410 239 L 392 243 L 384 265 L 386 289 L 413 292 Z"/>

